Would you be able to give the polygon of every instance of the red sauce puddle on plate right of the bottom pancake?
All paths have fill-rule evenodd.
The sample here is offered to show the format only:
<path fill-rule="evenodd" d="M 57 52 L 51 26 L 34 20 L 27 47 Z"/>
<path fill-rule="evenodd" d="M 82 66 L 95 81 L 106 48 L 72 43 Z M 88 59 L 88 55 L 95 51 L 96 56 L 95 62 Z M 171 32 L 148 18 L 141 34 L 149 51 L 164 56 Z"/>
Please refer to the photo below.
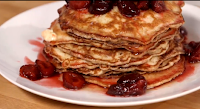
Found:
<path fill-rule="evenodd" d="M 184 81 L 187 77 L 194 74 L 194 70 L 195 70 L 194 64 L 186 62 L 185 63 L 185 71 L 181 75 L 179 75 L 177 78 L 175 78 L 175 81 L 177 81 L 177 82 Z"/>

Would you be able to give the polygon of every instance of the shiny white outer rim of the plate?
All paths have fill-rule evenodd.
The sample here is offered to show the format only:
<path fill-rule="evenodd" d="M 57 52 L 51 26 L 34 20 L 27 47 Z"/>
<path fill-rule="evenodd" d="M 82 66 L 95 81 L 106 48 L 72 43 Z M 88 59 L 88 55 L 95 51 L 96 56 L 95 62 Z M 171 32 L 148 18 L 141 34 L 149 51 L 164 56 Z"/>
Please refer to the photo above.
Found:
<path fill-rule="evenodd" d="M 12 18 L 8 19 L 6 22 L 4 22 L 2 25 L 0 25 L 0 28 L 4 27 L 8 22 L 10 22 L 11 20 L 15 19 L 17 16 L 21 16 L 24 13 L 28 13 L 28 12 L 32 11 L 33 9 L 42 8 L 43 6 L 53 5 L 53 4 L 56 4 L 56 3 L 59 3 L 59 2 L 63 2 L 63 1 L 47 3 L 47 4 L 44 4 L 44 5 L 40 5 L 40 6 L 37 6 L 37 7 L 33 7 L 31 9 L 29 9 L 29 10 L 23 11 L 22 13 L 19 13 L 19 14 L 13 16 Z M 200 10 L 199 7 L 191 5 L 191 4 L 188 4 L 188 3 L 185 3 L 185 5 L 193 7 L 193 8 L 198 8 Z M 167 97 L 164 97 L 164 98 L 157 98 L 157 99 L 153 99 L 153 100 L 143 100 L 143 101 L 134 101 L 134 102 L 129 101 L 129 102 L 112 102 L 112 103 L 110 103 L 110 102 L 109 103 L 106 103 L 106 102 L 101 103 L 100 102 L 99 103 L 99 102 L 89 102 L 89 101 L 81 101 L 81 100 L 71 100 L 71 99 L 67 99 L 67 98 L 61 98 L 61 97 L 57 97 L 57 96 L 53 96 L 53 95 L 48 95 L 46 93 L 42 93 L 42 92 L 39 92 L 37 90 L 30 89 L 30 88 L 28 88 L 26 86 L 23 86 L 23 85 L 17 83 L 16 81 L 10 79 L 9 77 L 7 77 L 4 74 L 5 73 L 2 73 L 2 71 L 0 69 L 0 75 L 2 75 L 5 79 L 7 79 L 12 84 L 18 86 L 19 88 L 21 88 L 21 89 L 23 89 L 25 91 L 28 91 L 28 92 L 31 92 L 33 94 L 39 95 L 41 97 L 50 98 L 52 100 L 62 101 L 62 102 L 65 102 L 65 103 L 78 104 L 78 105 L 86 105 L 86 106 L 101 106 L 101 107 L 116 107 L 116 106 L 118 106 L 119 107 L 119 106 L 136 106 L 136 105 L 144 105 L 144 104 L 150 104 L 150 103 L 158 103 L 158 102 L 162 102 L 162 101 L 178 98 L 178 97 L 187 95 L 189 93 L 195 92 L 195 91 L 200 89 L 200 85 L 199 85 L 196 88 L 184 91 L 182 93 L 178 93 L 178 94 L 175 94 L 175 95 L 167 96 Z"/>

